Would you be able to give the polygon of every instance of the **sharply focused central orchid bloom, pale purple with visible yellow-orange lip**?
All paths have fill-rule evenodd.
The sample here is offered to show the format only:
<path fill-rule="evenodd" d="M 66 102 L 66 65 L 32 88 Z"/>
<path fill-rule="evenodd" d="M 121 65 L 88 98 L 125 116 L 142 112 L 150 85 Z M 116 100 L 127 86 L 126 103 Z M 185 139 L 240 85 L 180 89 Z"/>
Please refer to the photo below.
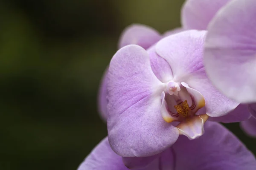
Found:
<path fill-rule="evenodd" d="M 107 74 L 107 112 L 108 139 L 115 153 L 152 156 L 174 144 L 179 134 L 189 139 L 201 136 L 209 116 L 248 117 L 239 114 L 239 103 L 218 92 L 207 78 L 205 34 L 183 31 L 147 51 L 127 45 L 113 56 Z M 230 111 L 239 116 L 225 117 Z"/>

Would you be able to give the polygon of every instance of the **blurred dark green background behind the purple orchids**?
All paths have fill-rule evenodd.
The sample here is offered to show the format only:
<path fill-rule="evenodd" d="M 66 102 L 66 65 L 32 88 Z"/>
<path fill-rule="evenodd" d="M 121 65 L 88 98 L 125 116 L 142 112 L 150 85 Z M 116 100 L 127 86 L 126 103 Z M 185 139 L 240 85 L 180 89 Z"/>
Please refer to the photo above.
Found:
<path fill-rule="evenodd" d="M 0 0 L 0 169 L 75 170 L 107 135 L 102 74 L 131 23 L 180 26 L 183 0 Z M 255 139 L 227 127 L 256 153 Z"/>

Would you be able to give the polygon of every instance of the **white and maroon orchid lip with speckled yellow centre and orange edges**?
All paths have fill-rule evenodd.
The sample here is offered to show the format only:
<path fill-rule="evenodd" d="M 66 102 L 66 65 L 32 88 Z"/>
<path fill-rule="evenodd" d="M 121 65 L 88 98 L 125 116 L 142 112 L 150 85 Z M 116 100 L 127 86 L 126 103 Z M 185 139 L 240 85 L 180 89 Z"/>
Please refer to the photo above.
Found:
<path fill-rule="evenodd" d="M 185 82 L 179 85 L 171 81 L 167 83 L 166 91 L 162 92 L 161 99 L 163 119 L 168 123 L 180 122 L 177 128 L 181 135 L 195 139 L 204 133 L 204 122 L 209 116 L 196 115 L 198 110 L 205 106 L 204 96 L 199 91 L 190 88 Z"/>

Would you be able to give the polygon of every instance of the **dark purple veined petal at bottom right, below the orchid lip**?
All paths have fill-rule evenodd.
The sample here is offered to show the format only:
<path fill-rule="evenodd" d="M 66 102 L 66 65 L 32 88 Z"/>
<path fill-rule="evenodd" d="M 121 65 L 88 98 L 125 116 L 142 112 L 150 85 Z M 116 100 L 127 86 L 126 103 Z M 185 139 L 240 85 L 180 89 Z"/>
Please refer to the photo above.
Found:
<path fill-rule="evenodd" d="M 172 146 L 175 170 L 255 170 L 256 160 L 239 139 L 215 122 L 206 122 L 198 139 L 180 136 Z"/>

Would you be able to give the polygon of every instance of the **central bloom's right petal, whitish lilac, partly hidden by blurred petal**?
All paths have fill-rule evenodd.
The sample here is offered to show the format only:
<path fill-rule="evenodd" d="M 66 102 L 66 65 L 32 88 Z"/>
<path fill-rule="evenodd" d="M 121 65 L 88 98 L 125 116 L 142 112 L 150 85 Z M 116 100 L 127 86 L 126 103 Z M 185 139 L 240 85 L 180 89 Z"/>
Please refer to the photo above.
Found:
<path fill-rule="evenodd" d="M 224 116 L 239 103 L 221 94 L 209 81 L 203 64 L 203 47 L 206 31 L 183 31 L 166 37 L 156 45 L 157 54 L 166 59 L 172 68 L 173 81 L 186 82 L 205 99 L 207 114 Z"/>

